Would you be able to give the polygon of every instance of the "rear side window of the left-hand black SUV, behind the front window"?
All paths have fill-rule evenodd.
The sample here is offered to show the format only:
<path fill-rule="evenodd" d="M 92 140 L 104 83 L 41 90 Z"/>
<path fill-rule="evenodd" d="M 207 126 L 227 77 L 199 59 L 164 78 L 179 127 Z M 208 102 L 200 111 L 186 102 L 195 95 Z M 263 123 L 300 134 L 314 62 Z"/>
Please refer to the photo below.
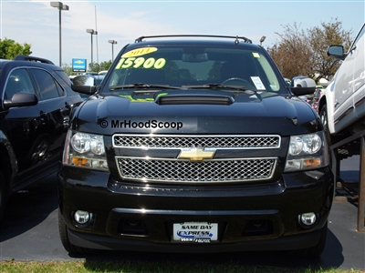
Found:
<path fill-rule="evenodd" d="M 32 74 L 36 78 L 42 100 L 64 96 L 63 89 L 47 71 L 32 69 Z"/>

